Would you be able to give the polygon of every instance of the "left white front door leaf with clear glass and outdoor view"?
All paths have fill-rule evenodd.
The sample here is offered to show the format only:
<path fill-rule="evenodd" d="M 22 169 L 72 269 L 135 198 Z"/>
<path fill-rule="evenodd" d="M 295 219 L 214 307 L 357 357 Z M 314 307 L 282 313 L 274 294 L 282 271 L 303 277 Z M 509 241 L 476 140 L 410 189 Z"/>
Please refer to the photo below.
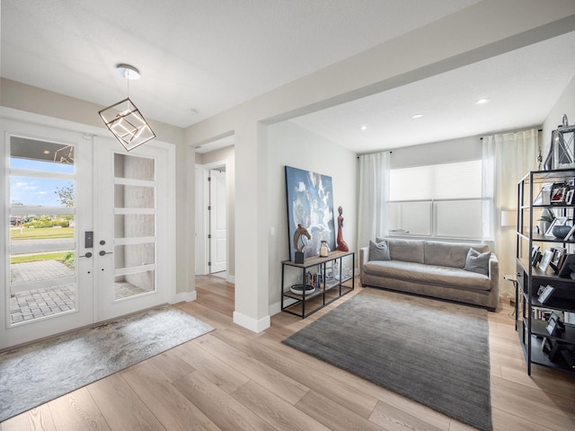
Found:
<path fill-rule="evenodd" d="M 0 348 L 93 322 L 92 140 L 0 119 Z M 88 244 L 89 245 L 89 244 Z"/>

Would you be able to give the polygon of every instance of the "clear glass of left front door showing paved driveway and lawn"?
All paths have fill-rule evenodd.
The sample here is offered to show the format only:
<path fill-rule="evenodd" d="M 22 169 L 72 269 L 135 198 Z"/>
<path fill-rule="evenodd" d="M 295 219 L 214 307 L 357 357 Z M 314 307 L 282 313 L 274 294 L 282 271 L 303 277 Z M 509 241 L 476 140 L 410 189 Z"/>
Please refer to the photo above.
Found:
<path fill-rule="evenodd" d="M 76 310 L 75 145 L 9 137 L 10 325 Z"/>

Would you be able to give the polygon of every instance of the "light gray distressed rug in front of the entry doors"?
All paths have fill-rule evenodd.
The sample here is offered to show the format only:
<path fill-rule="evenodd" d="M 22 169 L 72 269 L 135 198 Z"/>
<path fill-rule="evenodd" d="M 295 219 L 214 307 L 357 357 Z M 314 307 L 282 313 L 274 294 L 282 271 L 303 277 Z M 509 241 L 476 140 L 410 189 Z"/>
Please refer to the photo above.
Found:
<path fill-rule="evenodd" d="M 165 306 L 0 354 L 0 422 L 213 330 Z"/>

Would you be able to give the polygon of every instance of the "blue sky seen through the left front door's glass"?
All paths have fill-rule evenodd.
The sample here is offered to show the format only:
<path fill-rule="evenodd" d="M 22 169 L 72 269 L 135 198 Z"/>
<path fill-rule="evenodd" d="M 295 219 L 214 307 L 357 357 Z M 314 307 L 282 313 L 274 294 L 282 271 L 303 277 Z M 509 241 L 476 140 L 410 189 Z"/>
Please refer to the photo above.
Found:
<path fill-rule="evenodd" d="M 12 157 L 10 167 L 18 169 L 30 169 L 33 171 L 74 173 L 73 164 L 50 163 L 30 159 Z M 32 176 L 10 177 L 10 202 L 24 206 L 61 207 L 57 193 L 54 190 L 61 189 L 73 184 L 70 180 L 53 180 Z"/>

